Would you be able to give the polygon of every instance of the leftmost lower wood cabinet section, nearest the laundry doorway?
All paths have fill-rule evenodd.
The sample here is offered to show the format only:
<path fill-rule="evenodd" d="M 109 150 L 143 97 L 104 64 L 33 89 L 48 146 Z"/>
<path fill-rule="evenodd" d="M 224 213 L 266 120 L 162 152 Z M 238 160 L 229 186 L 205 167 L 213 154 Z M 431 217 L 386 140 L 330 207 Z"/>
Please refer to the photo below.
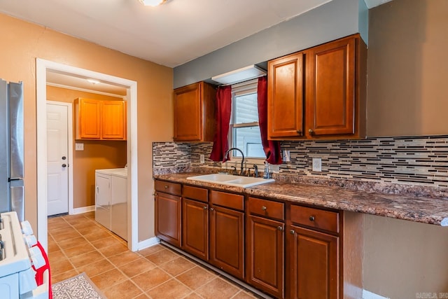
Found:
<path fill-rule="evenodd" d="M 180 195 L 181 184 L 155 181 L 155 235 L 177 247 L 181 246 Z"/>

